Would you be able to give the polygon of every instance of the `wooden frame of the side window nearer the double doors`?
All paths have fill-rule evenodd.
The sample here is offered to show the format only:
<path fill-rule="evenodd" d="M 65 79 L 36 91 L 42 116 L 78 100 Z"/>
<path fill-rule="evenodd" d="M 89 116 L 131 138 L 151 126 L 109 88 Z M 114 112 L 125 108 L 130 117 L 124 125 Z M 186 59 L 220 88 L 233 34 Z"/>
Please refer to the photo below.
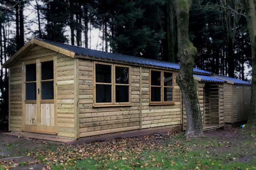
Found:
<path fill-rule="evenodd" d="M 96 82 L 96 64 L 100 65 L 111 65 L 111 83 Z M 129 82 L 128 84 L 116 83 L 116 67 L 125 67 L 129 71 Z M 96 85 L 111 85 L 111 102 L 96 103 Z M 116 85 L 129 86 L 129 99 L 128 102 L 116 102 Z M 129 106 L 131 105 L 131 66 L 119 65 L 106 62 L 93 62 L 93 107 L 107 107 L 107 106 Z"/>

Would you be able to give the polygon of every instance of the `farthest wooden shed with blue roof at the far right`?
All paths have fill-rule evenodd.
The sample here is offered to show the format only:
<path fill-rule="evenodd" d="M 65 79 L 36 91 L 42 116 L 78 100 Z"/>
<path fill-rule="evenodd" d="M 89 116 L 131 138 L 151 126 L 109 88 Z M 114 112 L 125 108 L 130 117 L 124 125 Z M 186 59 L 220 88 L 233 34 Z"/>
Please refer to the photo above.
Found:
<path fill-rule="evenodd" d="M 233 124 L 247 121 L 250 112 L 250 83 L 231 77 L 215 75 L 224 80 L 224 122 Z"/>

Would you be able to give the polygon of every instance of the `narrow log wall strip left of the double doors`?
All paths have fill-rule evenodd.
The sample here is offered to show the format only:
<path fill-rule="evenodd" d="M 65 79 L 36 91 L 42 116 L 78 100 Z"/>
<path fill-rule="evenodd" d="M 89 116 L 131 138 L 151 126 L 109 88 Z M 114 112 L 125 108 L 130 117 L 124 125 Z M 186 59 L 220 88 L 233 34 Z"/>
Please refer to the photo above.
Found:
<path fill-rule="evenodd" d="M 9 68 L 9 130 L 22 131 L 22 64 Z"/>

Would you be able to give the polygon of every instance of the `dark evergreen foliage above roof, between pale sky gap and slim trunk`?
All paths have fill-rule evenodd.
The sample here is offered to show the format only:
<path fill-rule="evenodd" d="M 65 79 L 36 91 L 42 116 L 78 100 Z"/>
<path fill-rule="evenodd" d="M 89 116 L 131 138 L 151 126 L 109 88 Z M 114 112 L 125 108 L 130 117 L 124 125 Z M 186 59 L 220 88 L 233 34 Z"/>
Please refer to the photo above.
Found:
<path fill-rule="evenodd" d="M 115 53 L 160 59 L 163 39 L 163 0 L 98 0 L 95 24 L 107 23 L 105 39 Z"/>

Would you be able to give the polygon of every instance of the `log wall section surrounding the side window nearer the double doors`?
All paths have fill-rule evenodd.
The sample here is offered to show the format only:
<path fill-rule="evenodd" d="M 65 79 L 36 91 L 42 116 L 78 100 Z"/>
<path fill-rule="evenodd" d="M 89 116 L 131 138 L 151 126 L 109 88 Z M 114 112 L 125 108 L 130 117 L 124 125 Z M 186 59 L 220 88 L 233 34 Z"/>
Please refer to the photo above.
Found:
<path fill-rule="evenodd" d="M 78 65 L 79 137 L 140 129 L 140 67 L 131 66 L 131 105 L 93 107 L 93 62 Z"/>

